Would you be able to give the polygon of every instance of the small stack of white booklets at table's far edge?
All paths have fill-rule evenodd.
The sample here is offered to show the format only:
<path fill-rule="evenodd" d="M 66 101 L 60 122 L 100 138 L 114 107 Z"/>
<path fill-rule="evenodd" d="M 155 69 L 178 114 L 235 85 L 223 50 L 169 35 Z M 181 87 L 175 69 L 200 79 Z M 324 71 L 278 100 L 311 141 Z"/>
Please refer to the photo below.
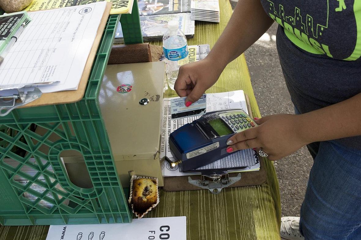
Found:
<path fill-rule="evenodd" d="M 191 19 L 219 22 L 218 0 L 191 0 Z"/>

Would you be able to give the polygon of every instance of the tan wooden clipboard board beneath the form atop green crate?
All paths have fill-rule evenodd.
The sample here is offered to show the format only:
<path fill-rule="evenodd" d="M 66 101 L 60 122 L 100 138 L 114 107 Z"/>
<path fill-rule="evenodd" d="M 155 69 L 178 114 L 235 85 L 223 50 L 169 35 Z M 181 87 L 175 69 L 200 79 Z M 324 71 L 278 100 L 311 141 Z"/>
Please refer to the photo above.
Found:
<path fill-rule="evenodd" d="M 55 92 L 55 93 L 43 93 L 39 99 L 36 99 L 35 101 L 32 101 L 29 104 L 22 106 L 22 107 L 38 107 L 38 106 L 44 106 L 44 105 L 73 103 L 73 102 L 78 102 L 83 98 L 85 89 L 87 87 L 88 79 L 90 76 L 90 71 L 93 66 L 95 54 L 98 50 L 101 37 L 103 36 L 103 31 L 106 26 L 106 22 L 108 21 L 110 9 L 112 9 L 112 3 L 110 3 L 110 2 L 106 3 L 104 15 L 101 18 L 98 31 L 96 32 L 94 43 L 90 50 L 87 62 L 85 64 L 83 75 L 82 75 L 81 80 L 78 85 L 78 89 Z M 22 108 L 22 107 L 19 107 L 19 108 Z"/>

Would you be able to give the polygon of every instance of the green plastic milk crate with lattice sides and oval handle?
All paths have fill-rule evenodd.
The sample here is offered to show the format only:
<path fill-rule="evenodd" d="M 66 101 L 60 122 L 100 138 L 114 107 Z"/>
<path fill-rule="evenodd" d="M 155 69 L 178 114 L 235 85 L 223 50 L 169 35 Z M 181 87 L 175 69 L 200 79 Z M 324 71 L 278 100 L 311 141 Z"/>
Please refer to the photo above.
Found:
<path fill-rule="evenodd" d="M 119 15 L 108 19 L 81 101 L 19 108 L 0 117 L 1 225 L 131 222 L 98 106 L 118 22 Z M 82 153 L 93 187 L 70 181 L 59 157 L 66 150 Z"/>

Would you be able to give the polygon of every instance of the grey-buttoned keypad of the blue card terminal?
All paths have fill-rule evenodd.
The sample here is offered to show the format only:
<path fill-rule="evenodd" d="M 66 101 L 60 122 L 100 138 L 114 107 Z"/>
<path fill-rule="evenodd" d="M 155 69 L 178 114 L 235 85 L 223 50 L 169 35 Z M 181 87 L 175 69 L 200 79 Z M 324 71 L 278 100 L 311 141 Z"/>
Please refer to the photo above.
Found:
<path fill-rule="evenodd" d="M 235 133 L 239 133 L 243 130 L 256 126 L 254 121 L 242 112 L 224 112 L 219 114 L 219 117 L 221 117 Z"/>

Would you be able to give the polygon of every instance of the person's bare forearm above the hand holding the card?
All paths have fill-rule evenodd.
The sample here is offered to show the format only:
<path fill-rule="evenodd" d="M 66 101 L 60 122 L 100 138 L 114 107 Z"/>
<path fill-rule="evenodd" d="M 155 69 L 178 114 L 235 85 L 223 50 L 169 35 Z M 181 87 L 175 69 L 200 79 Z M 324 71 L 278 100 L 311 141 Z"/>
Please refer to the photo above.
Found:
<path fill-rule="evenodd" d="M 225 68 L 255 43 L 273 22 L 262 8 L 260 0 L 239 0 L 208 58 L 217 61 L 222 69 Z"/>

